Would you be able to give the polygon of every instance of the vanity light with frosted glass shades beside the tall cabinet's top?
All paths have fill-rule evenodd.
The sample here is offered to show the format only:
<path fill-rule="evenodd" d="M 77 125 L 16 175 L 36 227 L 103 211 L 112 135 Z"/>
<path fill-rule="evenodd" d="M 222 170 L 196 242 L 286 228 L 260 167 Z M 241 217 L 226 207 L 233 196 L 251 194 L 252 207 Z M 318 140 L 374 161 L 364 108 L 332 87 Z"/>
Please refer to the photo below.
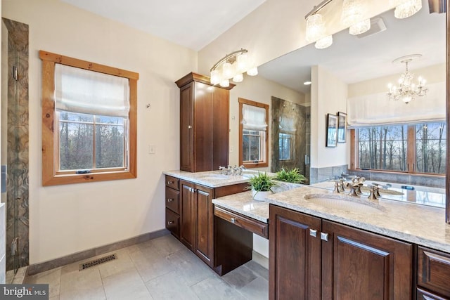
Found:
<path fill-rule="evenodd" d="M 254 67 L 248 58 L 248 50 L 240 48 L 231 52 L 215 63 L 210 70 L 210 82 L 213 85 L 219 84 L 222 87 L 230 85 L 230 79 L 234 82 L 243 81 L 243 73 L 249 76 L 256 76 L 258 68 Z"/>

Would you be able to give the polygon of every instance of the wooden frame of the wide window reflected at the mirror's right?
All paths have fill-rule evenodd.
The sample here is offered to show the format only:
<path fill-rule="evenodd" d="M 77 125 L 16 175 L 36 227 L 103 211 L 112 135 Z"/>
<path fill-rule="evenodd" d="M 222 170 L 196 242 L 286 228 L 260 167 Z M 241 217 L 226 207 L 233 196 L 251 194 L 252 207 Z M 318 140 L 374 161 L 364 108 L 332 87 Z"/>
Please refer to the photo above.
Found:
<path fill-rule="evenodd" d="M 416 130 L 415 125 L 409 125 L 407 128 L 406 137 L 406 171 L 385 170 L 385 169 L 370 169 L 375 172 L 388 172 L 409 175 L 425 175 L 425 176 L 439 176 L 444 177 L 445 174 L 423 173 L 416 171 Z M 359 168 L 359 141 L 356 135 L 356 129 L 350 129 L 350 170 L 360 170 Z M 447 168 L 448 166 L 446 166 Z"/>

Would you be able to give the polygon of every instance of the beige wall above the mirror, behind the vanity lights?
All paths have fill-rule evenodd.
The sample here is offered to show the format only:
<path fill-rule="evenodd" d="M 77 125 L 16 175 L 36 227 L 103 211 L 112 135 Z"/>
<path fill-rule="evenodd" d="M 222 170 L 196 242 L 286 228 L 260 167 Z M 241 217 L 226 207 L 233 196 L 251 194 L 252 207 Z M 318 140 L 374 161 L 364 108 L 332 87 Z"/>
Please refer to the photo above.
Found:
<path fill-rule="evenodd" d="M 322 0 L 266 0 L 228 31 L 198 53 L 198 70 L 208 74 L 210 68 L 226 53 L 247 48 L 255 58 L 255 65 L 262 65 L 307 45 L 304 39 L 304 16 Z M 368 17 L 379 15 L 392 8 L 389 0 L 366 1 Z M 329 34 L 340 32 L 342 1 L 332 1 L 321 13 L 327 20 Z"/>

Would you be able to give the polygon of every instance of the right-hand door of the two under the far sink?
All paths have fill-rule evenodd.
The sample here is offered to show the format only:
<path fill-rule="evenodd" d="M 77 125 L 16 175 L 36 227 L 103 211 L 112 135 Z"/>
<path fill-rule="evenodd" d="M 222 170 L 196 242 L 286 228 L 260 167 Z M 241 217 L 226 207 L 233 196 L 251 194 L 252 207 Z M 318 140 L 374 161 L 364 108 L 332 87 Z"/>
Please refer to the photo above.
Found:
<path fill-rule="evenodd" d="M 212 252 L 214 249 L 214 222 L 212 196 L 213 190 L 201 185 L 195 185 L 196 189 L 196 223 L 195 254 L 205 263 L 212 266 Z"/>

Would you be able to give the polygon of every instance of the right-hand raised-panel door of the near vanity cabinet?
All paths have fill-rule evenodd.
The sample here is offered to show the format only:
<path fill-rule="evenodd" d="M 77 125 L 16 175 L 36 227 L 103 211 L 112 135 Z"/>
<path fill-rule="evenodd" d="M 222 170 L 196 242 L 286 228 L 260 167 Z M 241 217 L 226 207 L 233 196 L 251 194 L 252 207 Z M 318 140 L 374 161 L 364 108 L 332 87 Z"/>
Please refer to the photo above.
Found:
<path fill-rule="evenodd" d="M 323 299 L 411 299 L 412 245 L 322 221 Z"/>

